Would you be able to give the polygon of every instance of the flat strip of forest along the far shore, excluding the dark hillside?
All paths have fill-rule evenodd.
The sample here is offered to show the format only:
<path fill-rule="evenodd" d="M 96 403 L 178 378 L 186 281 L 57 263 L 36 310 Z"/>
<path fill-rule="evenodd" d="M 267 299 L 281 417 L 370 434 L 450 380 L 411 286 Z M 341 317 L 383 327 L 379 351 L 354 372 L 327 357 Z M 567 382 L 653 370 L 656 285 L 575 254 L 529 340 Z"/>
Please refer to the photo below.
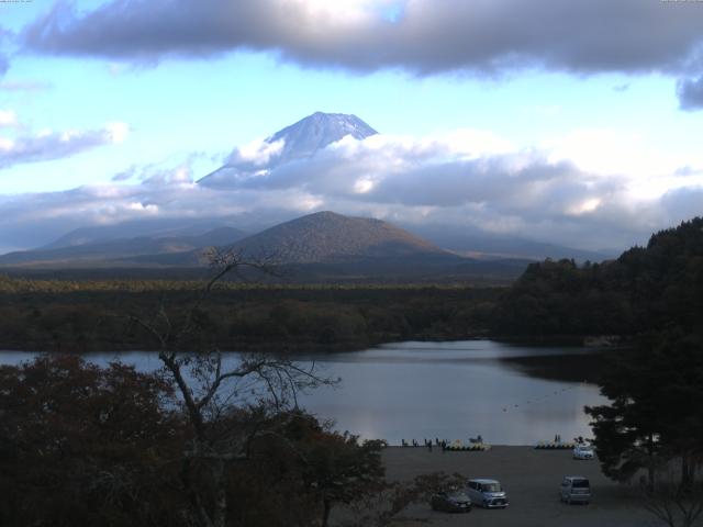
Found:
<path fill-rule="evenodd" d="M 199 281 L 0 279 L 0 347 L 89 351 L 156 349 L 126 324 L 160 306 L 185 316 Z M 402 339 L 486 335 L 496 288 L 219 283 L 198 323 L 221 349 L 358 349 Z M 196 346 L 198 343 L 185 343 Z"/>

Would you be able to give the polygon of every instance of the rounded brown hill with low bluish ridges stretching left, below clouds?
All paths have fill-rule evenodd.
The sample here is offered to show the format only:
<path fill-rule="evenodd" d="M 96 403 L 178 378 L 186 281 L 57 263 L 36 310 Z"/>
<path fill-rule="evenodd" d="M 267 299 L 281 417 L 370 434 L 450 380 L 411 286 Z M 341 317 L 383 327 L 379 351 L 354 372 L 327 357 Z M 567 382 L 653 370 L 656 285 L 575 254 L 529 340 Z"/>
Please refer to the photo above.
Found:
<path fill-rule="evenodd" d="M 222 227 L 198 236 L 116 238 L 76 244 L 65 236 L 36 250 L 0 256 L 0 267 L 24 269 L 204 268 L 207 247 L 267 260 L 294 279 L 517 277 L 526 260 L 481 261 L 446 251 L 388 222 L 319 212 L 258 234 Z M 68 245 L 72 242 L 74 245 Z"/>

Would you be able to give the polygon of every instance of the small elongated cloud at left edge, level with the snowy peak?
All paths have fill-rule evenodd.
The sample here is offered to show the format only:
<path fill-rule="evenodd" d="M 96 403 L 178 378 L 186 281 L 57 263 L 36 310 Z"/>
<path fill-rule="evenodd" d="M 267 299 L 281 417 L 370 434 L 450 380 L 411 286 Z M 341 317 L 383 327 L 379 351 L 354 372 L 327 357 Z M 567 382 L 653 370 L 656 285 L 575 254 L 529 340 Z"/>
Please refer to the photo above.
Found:
<path fill-rule="evenodd" d="M 0 136 L 0 170 L 25 162 L 70 157 L 98 146 L 124 141 L 129 126 L 110 123 L 102 130 L 52 132 L 18 137 Z"/>

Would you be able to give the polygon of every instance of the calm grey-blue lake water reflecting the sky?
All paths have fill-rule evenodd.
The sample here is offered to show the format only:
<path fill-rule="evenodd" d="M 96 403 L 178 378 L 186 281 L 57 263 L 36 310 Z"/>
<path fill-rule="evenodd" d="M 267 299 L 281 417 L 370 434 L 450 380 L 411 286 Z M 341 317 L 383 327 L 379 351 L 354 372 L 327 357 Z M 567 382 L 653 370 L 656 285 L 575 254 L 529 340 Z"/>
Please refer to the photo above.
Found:
<path fill-rule="evenodd" d="M 35 354 L 1 351 L 0 362 L 18 363 Z M 228 354 L 236 361 L 238 354 Z M 143 371 L 160 365 L 153 352 L 88 354 L 92 362 L 122 360 Z M 591 437 L 583 406 L 605 402 L 598 386 L 574 379 L 592 370 L 598 350 L 514 346 L 491 340 L 397 343 L 364 351 L 301 357 L 319 371 L 341 378 L 300 397 L 301 405 L 339 430 L 365 438 L 444 438 L 481 435 L 493 445 L 533 445 Z M 557 367 L 555 368 L 555 363 Z M 546 365 L 546 367 L 545 367 Z M 560 371 L 569 374 L 560 375 Z M 563 377 L 563 379 L 560 379 Z M 584 373 L 585 377 L 585 373 Z"/>

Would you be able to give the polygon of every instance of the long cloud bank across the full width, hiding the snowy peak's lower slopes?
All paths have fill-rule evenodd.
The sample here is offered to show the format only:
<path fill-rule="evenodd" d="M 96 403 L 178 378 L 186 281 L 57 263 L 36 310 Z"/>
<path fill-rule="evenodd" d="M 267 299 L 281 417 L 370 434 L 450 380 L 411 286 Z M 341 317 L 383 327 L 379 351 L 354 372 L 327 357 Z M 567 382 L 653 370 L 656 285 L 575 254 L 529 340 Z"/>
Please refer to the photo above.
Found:
<path fill-rule="evenodd" d="M 211 217 L 244 226 L 320 210 L 405 225 L 462 225 L 578 248 L 626 248 L 701 213 L 703 176 L 674 175 L 676 168 L 674 190 L 638 198 L 647 179 L 587 170 L 559 152 L 516 149 L 486 132 L 347 136 L 310 159 L 214 187 L 194 182 L 200 175 L 185 161 L 129 167 L 112 183 L 66 192 L 0 197 L 0 249 L 124 221 Z"/>

